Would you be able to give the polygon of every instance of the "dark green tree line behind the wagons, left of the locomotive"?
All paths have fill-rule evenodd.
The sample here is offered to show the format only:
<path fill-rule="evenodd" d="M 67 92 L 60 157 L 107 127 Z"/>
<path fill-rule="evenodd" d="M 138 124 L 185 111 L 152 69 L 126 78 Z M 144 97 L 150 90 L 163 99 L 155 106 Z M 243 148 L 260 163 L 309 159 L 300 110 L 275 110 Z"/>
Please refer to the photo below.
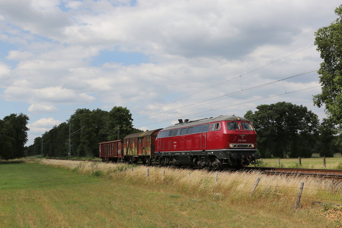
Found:
<path fill-rule="evenodd" d="M 97 157 L 98 143 L 141 132 L 133 128 L 132 121 L 132 114 L 126 107 L 115 106 L 110 111 L 77 109 L 66 122 L 53 126 L 50 131 L 35 138 L 34 143 L 27 147 L 27 152 L 44 157 L 66 157 L 70 134 L 71 156 Z"/>

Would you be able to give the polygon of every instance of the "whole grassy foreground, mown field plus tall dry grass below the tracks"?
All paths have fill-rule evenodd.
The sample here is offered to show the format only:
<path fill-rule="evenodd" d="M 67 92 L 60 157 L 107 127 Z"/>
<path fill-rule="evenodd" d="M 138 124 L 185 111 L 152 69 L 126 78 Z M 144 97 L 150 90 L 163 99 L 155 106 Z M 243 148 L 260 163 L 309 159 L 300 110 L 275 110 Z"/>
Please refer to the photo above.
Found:
<path fill-rule="evenodd" d="M 341 194 L 334 192 L 341 191 L 341 186 L 329 180 L 225 172 L 215 185 L 215 173 L 204 170 L 190 171 L 189 177 L 188 170 L 148 167 L 147 179 L 145 166 L 121 164 L 117 173 L 117 165 L 109 163 L 29 162 L 0 164 L 2 227 L 338 225 L 319 216 L 323 206 L 312 204 L 317 199 L 307 198 L 341 200 Z M 261 181 L 249 197 L 257 177 Z M 300 182 L 310 189 L 303 190 L 302 208 L 295 210 Z"/>

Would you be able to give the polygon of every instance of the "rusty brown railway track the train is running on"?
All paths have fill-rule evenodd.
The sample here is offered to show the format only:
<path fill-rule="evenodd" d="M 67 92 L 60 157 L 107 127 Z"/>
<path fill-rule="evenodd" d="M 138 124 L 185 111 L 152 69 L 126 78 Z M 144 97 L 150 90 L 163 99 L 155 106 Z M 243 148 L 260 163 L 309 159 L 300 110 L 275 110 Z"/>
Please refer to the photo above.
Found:
<path fill-rule="evenodd" d="M 74 161 L 89 161 L 89 162 L 102 162 L 99 160 L 77 160 L 77 159 L 58 159 L 55 160 L 74 160 Z M 159 166 L 153 164 L 153 166 Z M 189 169 L 190 167 L 183 167 Z M 200 169 L 193 167 L 192 169 Z M 208 169 L 210 171 L 217 171 L 217 169 Z M 278 168 L 278 167 L 243 167 L 241 169 L 223 169 L 222 171 L 237 171 L 237 172 L 250 172 L 260 171 L 267 175 L 286 175 L 286 176 L 311 176 L 322 179 L 334 179 L 342 181 L 342 170 L 326 170 L 326 169 L 301 169 L 301 168 Z"/>

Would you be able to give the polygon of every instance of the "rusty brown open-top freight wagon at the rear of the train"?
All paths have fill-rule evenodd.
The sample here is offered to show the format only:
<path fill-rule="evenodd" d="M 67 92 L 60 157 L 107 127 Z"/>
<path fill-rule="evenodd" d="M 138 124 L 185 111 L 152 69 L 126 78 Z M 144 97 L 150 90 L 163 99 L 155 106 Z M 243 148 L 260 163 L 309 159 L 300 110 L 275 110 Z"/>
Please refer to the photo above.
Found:
<path fill-rule="evenodd" d="M 99 143 L 99 158 L 102 161 L 114 161 L 123 159 L 123 140 Z"/>

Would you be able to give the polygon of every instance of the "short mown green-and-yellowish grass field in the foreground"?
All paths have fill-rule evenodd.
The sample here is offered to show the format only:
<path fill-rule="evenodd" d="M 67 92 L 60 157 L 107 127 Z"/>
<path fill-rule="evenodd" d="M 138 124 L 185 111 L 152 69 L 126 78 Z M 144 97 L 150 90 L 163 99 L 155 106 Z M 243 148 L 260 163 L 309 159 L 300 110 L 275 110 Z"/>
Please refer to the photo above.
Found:
<path fill-rule="evenodd" d="M 267 198 L 212 199 L 169 185 L 96 178 L 37 163 L 0 164 L 0 174 L 4 228 L 332 227 L 316 205 L 295 210 Z"/>

